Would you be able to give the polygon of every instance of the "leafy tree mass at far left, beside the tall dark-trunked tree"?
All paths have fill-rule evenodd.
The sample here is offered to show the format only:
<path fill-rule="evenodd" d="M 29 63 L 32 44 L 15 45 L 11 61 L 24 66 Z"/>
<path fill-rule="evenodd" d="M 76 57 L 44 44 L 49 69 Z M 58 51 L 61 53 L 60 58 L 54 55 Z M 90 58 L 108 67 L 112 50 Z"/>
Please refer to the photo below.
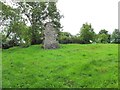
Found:
<path fill-rule="evenodd" d="M 29 28 L 24 22 L 19 8 L 13 8 L 0 2 L 2 5 L 2 46 L 3 48 L 9 48 L 12 46 L 29 46 L 30 34 Z M 22 44 L 24 41 L 24 44 Z"/>

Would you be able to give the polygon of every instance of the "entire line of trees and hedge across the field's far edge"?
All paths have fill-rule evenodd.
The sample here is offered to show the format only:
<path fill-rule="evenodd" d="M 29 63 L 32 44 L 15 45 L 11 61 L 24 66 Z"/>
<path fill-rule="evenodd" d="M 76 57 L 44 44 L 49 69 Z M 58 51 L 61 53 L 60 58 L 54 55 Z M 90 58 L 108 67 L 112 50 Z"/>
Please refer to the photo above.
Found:
<path fill-rule="evenodd" d="M 13 6 L 0 2 L 0 5 L 2 6 L 0 10 L 2 13 L 0 47 L 2 48 L 42 44 L 47 20 L 53 23 L 58 33 L 57 39 L 61 44 L 120 43 L 118 29 L 115 29 L 112 34 L 105 29 L 96 34 L 92 25 L 88 23 L 83 24 L 76 35 L 62 32 L 60 19 L 63 16 L 60 15 L 56 2 L 16 2 Z"/>

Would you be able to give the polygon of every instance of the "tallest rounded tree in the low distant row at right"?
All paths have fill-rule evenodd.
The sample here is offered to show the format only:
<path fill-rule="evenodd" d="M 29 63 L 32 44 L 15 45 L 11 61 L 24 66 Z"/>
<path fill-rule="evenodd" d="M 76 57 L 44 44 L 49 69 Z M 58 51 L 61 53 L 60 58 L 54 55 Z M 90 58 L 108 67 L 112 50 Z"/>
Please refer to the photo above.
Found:
<path fill-rule="evenodd" d="M 91 43 L 90 41 L 94 42 L 94 37 L 95 32 L 91 24 L 83 24 L 82 28 L 80 29 L 80 40 L 82 43 L 87 44 Z"/>

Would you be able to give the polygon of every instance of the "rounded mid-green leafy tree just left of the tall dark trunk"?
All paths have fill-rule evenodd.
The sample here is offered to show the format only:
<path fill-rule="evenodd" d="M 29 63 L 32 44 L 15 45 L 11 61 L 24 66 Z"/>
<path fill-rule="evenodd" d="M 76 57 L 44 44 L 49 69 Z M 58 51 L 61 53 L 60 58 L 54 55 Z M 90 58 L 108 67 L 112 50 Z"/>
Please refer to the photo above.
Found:
<path fill-rule="evenodd" d="M 31 43 L 30 29 L 22 22 L 16 22 L 11 26 L 13 33 L 15 34 L 15 42 L 22 47 L 27 47 Z M 14 32 L 15 31 L 15 32 Z M 17 31 L 17 32 L 16 32 Z"/>

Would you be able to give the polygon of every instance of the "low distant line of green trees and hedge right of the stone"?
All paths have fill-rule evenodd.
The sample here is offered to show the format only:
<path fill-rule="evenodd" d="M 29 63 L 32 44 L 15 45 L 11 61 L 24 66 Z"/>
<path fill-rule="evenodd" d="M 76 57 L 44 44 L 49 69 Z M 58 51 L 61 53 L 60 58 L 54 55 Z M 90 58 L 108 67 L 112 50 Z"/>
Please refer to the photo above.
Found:
<path fill-rule="evenodd" d="M 68 43 L 120 43 L 120 31 L 113 30 L 112 34 L 105 29 L 99 31 L 98 34 L 94 32 L 91 24 L 85 23 L 76 35 L 71 35 L 69 32 L 60 32 L 59 42 L 62 44 Z"/>

